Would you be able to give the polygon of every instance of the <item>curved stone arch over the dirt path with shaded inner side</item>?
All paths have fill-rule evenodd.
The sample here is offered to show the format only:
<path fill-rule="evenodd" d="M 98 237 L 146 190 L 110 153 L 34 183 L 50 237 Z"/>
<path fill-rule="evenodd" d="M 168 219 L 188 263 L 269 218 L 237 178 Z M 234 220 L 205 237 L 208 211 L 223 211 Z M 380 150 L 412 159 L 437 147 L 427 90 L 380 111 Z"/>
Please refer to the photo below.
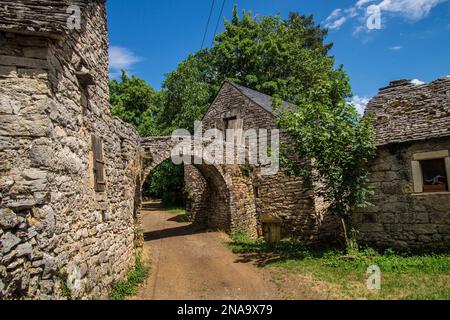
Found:
<path fill-rule="evenodd" d="M 177 144 L 171 137 L 152 137 L 143 139 L 141 142 L 142 174 L 140 177 L 140 187 L 142 188 L 145 179 L 164 161 L 171 158 L 171 150 Z M 195 169 L 206 183 L 206 192 L 201 201 L 201 210 L 192 212 L 191 220 L 211 229 L 232 231 L 232 208 L 233 193 L 231 188 L 232 179 L 226 174 L 226 168 L 212 164 L 200 163 L 192 159 L 192 165 L 187 165 Z M 197 159 L 198 160 L 198 159 Z M 139 191 L 141 194 L 141 189 Z M 198 195 L 200 196 L 200 195 Z"/>

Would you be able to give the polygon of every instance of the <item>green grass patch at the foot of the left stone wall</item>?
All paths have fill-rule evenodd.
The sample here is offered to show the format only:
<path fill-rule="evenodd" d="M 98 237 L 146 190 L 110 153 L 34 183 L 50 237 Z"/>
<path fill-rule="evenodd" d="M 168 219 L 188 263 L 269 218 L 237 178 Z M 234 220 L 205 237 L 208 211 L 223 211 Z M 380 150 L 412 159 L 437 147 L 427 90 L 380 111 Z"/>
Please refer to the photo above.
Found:
<path fill-rule="evenodd" d="M 145 282 L 150 274 L 150 265 L 143 261 L 141 255 L 136 257 L 136 266 L 128 273 L 125 281 L 113 285 L 109 295 L 110 300 L 125 300 L 138 293 L 139 286 Z"/>

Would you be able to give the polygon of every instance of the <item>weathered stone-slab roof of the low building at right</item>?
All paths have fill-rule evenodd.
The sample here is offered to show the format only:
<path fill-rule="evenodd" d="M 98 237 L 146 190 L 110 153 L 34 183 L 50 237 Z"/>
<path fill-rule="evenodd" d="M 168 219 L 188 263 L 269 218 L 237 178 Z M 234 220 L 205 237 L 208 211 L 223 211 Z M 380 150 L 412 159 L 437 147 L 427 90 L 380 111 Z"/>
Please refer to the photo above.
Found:
<path fill-rule="evenodd" d="M 367 105 L 379 146 L 450 137 L 450 77 L 429 84 L 397 80 Z"/>

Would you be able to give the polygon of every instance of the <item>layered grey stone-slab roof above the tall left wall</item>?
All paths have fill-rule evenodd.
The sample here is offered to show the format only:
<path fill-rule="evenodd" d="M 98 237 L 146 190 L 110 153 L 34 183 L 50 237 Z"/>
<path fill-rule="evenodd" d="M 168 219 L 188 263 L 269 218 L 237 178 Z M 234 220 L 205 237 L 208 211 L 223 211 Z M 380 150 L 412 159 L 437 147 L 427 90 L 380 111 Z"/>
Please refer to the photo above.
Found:
<path fill-rule="evenodd" d="M 103 1 L 103 0 L 97 0 Z M 72 12 L 69 6 L 86 6 L 86 0 L 0 0 L 0 31 L 61 38 Z"/>

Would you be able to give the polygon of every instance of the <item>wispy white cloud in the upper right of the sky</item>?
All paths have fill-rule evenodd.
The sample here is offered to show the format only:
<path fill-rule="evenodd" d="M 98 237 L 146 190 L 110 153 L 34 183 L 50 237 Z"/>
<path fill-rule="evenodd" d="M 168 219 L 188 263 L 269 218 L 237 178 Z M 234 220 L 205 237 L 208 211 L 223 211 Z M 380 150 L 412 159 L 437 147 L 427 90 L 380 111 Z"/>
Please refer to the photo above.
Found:
<path fill-rule="evenodd" d="M 383 24 L 390 18 L 400 17 L 409 21 L 418 21 L 426 18 L 431 10 L 437 5 L 449 0 L 358 0 L 347 9 L 334 10 L 324 21 L 325 27 L 339 29 L 352 18 L 357 18 L 358 25 L 355 27 L 354 35 L 367 30 L 367 8 L 378 6 L 382 15 Z"/>

